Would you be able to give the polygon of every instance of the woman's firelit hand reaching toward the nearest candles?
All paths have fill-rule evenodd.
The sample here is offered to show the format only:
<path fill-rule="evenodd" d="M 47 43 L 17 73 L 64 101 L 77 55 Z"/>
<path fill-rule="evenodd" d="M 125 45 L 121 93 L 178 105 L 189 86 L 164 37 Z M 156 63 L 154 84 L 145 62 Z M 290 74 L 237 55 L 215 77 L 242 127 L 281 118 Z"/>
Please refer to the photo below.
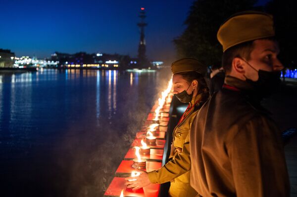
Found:
<path fill-rule="evenodd" d="M 141 174 L 136 177 L 127 177 L 125 178 L 126 180 L 133 180 L 133 181 L 127 181 L 125 185 L 127 185 L 127 188 L 133 188 L 132 190 L 138 190 L 143 187 L 146 187 L 150 184 L 150 181 L 148 179 L 148 172 L 144 170 L 138 170 L 136 169 L 137 172 L 140 172 Z"/>

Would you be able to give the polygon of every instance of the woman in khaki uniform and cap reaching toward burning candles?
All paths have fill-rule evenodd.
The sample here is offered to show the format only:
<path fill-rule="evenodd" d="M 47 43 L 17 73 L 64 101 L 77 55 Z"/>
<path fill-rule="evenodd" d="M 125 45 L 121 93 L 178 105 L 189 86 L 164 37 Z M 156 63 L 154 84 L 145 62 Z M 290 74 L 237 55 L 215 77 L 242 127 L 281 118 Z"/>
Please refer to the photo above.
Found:
<path fill-rule="evenodd" d="M 172 63 L 173 93 L 182 103 L 189 103 L 188 108 L 173 131 L 171 146 L 172 160 L 158 170 L 141 172 L 138 177 L 128 177 L 128 188 L 140 189 L 150 183 L 170 183 L 170 197 L 196 197 L 197 192 L 190 186 L 190 146 L 189 131 L 200 107 L 209 97 L 209 90 L 204 75 L 206 66 L 193 58 L 183 58 Z"/>

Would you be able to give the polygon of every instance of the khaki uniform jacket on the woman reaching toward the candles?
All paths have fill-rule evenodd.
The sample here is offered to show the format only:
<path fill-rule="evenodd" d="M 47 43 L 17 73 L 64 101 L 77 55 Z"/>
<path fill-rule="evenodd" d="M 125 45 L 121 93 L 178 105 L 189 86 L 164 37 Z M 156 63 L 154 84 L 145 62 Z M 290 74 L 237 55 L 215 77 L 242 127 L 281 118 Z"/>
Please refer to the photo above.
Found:
<path fill-rule="evenodd" d="M 196 96 L 196 101 L 201 99 L 201 95 Z M 192 99 L 193 105 L 195 98 Z M 174 152 L 173 159 L 168 161 L 160 169 L 148 172 L 151 183 L 166 183 L 191 169 L 189 131 L 191 124 L 198 113 L 199 106 L 195 106 L 190 114 L 174 128 L 173 145 L 176 149 L 182 150 L 180 153 Z M 189 180 L 187 180 L 189 182 Z"/>

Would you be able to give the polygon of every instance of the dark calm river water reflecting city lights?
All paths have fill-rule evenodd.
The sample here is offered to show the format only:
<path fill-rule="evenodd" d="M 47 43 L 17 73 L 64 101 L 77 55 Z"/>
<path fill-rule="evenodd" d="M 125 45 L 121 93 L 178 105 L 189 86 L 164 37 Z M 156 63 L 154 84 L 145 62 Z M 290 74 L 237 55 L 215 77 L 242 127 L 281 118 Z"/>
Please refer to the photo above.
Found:
<path fill-rule="evenodd" d="M 102 196 L 169 78 L 168 70 L 0 74 L 0 196 Z"/>

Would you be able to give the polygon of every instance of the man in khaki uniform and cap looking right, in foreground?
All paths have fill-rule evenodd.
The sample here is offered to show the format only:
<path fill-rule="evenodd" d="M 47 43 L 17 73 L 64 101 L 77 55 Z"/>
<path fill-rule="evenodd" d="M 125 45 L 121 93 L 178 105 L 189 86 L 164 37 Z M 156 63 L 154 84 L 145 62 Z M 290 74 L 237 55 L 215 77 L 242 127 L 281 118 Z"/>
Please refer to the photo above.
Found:
<path fill-rule="evenodd" d="M 190 131 L 191 186 L 202 197 L 287 197 L 281 132 L 260 101 L 280 83 L 273 18 L 241 12 L 219 28 L 226 72 L 222 90 Z"/>

